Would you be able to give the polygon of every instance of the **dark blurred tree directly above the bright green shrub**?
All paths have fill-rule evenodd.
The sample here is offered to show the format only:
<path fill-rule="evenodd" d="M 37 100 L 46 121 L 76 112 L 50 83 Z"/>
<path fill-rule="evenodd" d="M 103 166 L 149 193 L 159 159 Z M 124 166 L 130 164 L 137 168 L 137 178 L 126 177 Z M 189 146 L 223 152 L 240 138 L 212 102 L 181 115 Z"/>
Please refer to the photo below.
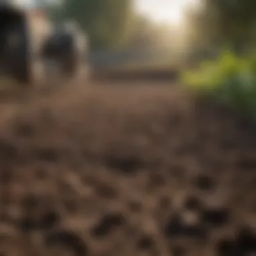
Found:
<path fill-rule="evenodd" d="M 255 0 L 199 0 L 201 8 L 187 10 L 192 45 L 231 46 L 243 53 L 255 42 Z"/>

